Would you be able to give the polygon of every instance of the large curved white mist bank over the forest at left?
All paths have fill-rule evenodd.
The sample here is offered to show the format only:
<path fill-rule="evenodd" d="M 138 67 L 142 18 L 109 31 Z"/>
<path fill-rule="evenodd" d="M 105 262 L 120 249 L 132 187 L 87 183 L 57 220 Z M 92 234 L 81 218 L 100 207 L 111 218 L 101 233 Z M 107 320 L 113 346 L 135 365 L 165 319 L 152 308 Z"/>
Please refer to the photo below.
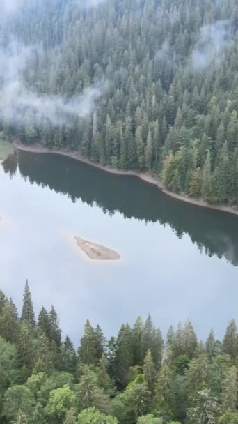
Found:
<path fill-rule="evenodd" d="M 0 120 L 8 124 L 31 119 L 35 125 L 48 121 L 52 126 L 67 123 L 70 117 L 88 116 L 95 101 L 105 89 L 104 82 L 88 87 L 79 96 L 40 96 L 24 84 L 24 69 L 32 60 L 35 46 L 24 47 L 12 43 L 7 51 L 0 50 Z M 38 51 L 40 47 L 38 47 Z"/>

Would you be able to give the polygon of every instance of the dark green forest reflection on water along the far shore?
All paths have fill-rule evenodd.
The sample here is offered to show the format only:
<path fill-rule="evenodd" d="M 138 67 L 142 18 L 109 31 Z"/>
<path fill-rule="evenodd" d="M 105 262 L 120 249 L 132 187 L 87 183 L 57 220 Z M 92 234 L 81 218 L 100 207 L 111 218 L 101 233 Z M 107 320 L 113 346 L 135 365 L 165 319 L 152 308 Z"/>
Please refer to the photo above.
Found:
<path fill-rule="evenodd" d="M 178 238 L 189 234 L 206 255 L 238 264 L 236 216 L 176 201 L 136 177 L 108 174 L 62 156 L 19 152 L 3 163 L 10 178 L 17 167 L 32 184 L 68 195 L 72 202 L 81 199 L 90 206 L 97 204 L 109 215 L 119 211 L 125 218 L 168 224 Z"/>

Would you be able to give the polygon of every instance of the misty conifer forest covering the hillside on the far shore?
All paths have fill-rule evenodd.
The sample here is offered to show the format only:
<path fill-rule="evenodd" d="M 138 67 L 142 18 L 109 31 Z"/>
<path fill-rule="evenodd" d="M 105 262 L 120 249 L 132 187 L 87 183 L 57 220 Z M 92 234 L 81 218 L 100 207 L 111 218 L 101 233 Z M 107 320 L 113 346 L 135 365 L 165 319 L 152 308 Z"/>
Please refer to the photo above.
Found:
<path fill-rule="evenodd" d="M 20 75 L 17 87 L 6 84 L 12 67 L 1 75 L 6 137 L 237 204 L 237 1 L 89 3 L 26 1 L 4 17 L 1 47 Z"/>

